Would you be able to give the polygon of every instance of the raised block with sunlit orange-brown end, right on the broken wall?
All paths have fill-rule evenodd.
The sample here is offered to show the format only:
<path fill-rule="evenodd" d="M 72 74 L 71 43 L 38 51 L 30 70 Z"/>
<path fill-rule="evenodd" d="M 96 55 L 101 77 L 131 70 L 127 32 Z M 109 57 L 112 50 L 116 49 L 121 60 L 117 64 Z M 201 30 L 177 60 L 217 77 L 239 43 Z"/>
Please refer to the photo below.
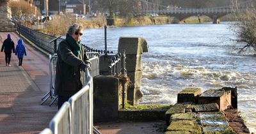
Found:
<path fill-rule="evenodd" d="M 198 97 L 198 104 L 217 103 L 220 110 L 231 107 L 231 91 L 224 89 L 210 89 Z"/>

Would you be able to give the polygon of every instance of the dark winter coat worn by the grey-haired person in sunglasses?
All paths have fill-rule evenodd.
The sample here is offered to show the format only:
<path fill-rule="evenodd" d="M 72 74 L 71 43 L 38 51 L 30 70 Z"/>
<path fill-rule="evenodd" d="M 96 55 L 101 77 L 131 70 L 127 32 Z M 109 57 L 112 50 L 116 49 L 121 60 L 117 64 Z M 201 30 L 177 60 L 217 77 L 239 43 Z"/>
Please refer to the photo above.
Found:
<path fill-rule="evenodd" d="M 79 56 L 74 55 L 74 47 L 68 43 L 67 39 L 60 42 L 58 46 L 58 59 L 56 63 L 56 78 L 54 94 L 62 96 L 72 96 L 82 89 L 81 69 L 79 64 L 90 65 L 90 60 L 82 46 Z"/>

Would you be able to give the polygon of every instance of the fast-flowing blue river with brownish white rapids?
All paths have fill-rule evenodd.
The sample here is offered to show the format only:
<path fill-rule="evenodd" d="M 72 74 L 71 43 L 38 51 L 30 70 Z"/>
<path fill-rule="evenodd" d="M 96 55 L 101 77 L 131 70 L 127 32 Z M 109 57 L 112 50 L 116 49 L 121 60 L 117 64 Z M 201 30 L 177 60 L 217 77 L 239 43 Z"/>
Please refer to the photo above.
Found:
<path fill-rule="evenodd" d="M 168 24 L 108 28 L 108 50 L 117 52 L 120 36 L 140 36 L 148 43 L 143 53 L 141 104 L 175 104 L 186 87 L 237 87 L 238 110 L 256 132 L 256 57 L 237 54 L 232 24 Z M 104 49 L 104 29 L 86 29 L 82 42 Z"/>

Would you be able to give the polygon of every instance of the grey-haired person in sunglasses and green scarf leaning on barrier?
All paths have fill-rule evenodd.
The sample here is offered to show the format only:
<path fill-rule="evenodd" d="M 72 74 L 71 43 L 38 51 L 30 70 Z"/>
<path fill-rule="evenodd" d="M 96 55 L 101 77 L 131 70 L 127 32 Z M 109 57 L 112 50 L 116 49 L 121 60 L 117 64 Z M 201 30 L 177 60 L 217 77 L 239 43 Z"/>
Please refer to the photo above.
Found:
<path fill-rule="evenodd" d="M 58 109 L 65 101 L 82 89 L 81 71 L 90 69 L 91 62 L 80 41 L 83 26 L 73 24 L 68 28 L 66 39 L 61 41 L 57 50 L 56 78 L 54 94 L 58 95 Z"/>

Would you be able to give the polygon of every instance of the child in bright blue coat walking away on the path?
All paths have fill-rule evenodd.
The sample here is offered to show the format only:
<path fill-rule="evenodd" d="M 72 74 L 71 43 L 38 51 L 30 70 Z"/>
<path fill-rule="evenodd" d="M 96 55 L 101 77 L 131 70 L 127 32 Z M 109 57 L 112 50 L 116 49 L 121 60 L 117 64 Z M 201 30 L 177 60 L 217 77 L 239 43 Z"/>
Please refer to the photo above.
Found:
<path fill-rule="evenodd" d="M 22 60 L 24 55 L 27 56 L 27 52 L 25 46 L 22 43 L 22 40 L 20 39 L 15 49 L 15 56 L 17 56 L 19 59 L 19 66 L 22 66 Z"/>

